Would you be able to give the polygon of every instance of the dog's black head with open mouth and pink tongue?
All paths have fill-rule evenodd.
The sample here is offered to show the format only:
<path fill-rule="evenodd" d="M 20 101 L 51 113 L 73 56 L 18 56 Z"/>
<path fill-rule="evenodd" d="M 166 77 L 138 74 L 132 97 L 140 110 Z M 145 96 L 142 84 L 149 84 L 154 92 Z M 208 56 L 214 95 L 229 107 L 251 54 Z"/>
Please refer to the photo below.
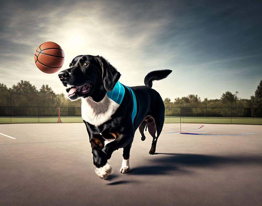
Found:
<path fill-rule="evenodd" d="M 59 72 L 58 77 L 71 100 L 89 97 L 94 92 L 112 91 L 120 73 L 101 56 L 76 56 L 70 68 Z M 99 94 L 96 94 L 96 96 Z"/>

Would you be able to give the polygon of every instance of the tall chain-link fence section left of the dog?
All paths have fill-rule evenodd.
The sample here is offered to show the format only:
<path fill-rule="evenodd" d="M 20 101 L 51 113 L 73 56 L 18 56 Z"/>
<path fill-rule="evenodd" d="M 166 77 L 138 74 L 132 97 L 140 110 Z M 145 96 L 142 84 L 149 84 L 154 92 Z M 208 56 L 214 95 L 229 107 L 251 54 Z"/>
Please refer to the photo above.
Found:
<path fill-rule="evenodd" d="M 2 92 L 0 123 L 57 122 L 59 108 L 62 122 L 82 122 L 80 102 L 73 102 L 77 107 L 68 106 L 70 103 L 70 100 L 51 93 Z"/>

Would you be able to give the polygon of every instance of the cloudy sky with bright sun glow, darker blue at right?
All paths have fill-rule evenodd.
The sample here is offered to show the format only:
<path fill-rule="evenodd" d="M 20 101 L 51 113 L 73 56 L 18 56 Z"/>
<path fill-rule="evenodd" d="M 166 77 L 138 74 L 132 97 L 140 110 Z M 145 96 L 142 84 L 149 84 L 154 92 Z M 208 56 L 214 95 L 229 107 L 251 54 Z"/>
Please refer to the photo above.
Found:
<path fill-rule="evenodd" d="M 198 95 L 219 99 L 238 91 L 249 99 L 262 80 L 261 1 L 2 1 L 0 83 L 20 80 L 56 93 L 65 87 L 42 73 L 34 54 L 43 42 L 65 54 L 60 71 L 78 55 L 100 55 L 127 86 L 144 85 L 145 75 L 171 69 L 153 82 L 161 97 Z"/>

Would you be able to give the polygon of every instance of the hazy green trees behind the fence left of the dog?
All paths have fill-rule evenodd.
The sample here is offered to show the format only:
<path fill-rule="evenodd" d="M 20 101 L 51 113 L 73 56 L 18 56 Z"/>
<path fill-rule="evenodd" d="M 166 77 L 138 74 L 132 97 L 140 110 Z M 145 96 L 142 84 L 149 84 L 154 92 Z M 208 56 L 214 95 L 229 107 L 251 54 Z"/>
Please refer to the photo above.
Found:
<path fill-rule="evenodd" d="M 61 116 L 81 115 L 80 99 L 72 102 L 49 85 L 37 90 L 29 81 L 21 80 L 11 88 L 0 83 L 0 116 L 58 116 L 57 107 Z"/>

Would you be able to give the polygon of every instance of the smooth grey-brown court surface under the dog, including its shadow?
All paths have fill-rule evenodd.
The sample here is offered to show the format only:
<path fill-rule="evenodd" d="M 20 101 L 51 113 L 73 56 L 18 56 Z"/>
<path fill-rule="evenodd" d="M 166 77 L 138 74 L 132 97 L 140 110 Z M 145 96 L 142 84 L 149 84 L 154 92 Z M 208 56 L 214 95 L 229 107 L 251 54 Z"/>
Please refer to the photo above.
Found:
<path fill-rule="evenodd" d="M 184 123 L 182 131 L 201 125 Z M 9 137 L 0 135 L 0 205 L 261 205 L 262 126 L 204 125 L 197 132 L 255 134 L 163 134 L 149 155 L 152 138 L 146 132 L 141 141 L 137 131 L 130 173 L 119 172 L 119 149 L 103 180 L 84 123 L 1 124 Z"/>

